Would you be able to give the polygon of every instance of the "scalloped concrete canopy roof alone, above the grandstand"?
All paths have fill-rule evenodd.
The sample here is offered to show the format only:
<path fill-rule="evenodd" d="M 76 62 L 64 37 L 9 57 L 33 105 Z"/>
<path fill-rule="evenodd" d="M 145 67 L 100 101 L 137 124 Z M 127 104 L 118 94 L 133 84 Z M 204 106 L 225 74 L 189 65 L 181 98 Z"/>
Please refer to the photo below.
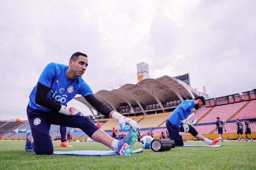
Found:
<path fill-rule="evenodd" d="M 125 84 L 119 89 L 111 91 L 100 90 L 95 93 L 95 96 L 99 100 L 110 106 L 116 112 L 118 112 L 120 103 L 127 102 L 131 107 L 131 113 L 135 114 L 133 106 L 139 106 L 145 115 L 146 112 L 143 107 L 145 105 L 158 103 L 163 112 L 165 112 L 162 103 L 179 99 L 184 101 L 184 99 L 193 99 L 199 95 L 204 96 L 205 99 L 209 98 L 207 94 L 198 92 L 183 81 L 170 76 L 145 79 L 136 85 Z M 84 103 L 91 112 L 92 109 L 95 110 L 84 97 L 75 97 L 74 99 Z"/>

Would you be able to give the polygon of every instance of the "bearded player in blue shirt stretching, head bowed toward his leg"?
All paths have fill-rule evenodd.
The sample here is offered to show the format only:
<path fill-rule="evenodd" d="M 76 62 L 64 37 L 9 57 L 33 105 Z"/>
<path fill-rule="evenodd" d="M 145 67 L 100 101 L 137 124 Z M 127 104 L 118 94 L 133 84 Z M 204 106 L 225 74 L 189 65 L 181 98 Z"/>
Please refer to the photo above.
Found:
<path fill-rule="evenodd" d="M 220 138 L 215 140 L 209 140 L 199 134 L 194 128 L 191 123 L 185 121 L 191 114 L 193 107 L 198 110 L 201 106 L 205 105 L 205 99 L 203 96 L 195 97 L 192 100 L 185 100 L 183 101 L 169 116 L 166 121 L 166 127 L 169 132 L 169 136 L 171 140 L 175 141 L 176 146 L 183 146 L 183 140 L 181 136 L 181 132 L 190 133 L 196 139 L 206 142 L 210 145 L 215 145 L 219 142 Z"/>

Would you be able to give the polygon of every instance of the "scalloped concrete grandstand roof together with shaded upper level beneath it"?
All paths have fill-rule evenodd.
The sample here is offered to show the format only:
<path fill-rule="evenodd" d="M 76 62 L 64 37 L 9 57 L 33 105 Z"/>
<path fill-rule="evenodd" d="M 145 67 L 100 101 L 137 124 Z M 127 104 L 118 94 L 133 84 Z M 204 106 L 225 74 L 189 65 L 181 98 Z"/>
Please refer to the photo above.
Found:
<path fill-rule="evenodd" d="M 187 81 L 186 81 L 187 82 Z M 95 96 L 116 112 L 126 116 L 141 116 L 173 111 L 181 102 L 196 96 L 209 98 L 205 93 L 193 89 L 180 79 L 163 76 L 158 79 L 144 79 L 136 85 L 125 84 L 111 91 L 100 90 Z M 84 97 L 74 99 L 85 104 L 95 119 L 105 118 L 96 111 Z"/>

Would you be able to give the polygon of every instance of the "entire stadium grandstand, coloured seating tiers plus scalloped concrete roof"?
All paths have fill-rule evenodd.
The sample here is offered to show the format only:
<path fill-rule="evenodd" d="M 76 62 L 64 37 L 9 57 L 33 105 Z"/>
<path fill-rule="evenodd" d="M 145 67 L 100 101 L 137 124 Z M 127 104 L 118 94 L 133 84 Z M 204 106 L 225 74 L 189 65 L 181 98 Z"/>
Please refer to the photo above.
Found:
<path fill-rule="evenodd" d="M 145 63 L 140 63 L 145 64 Z M 144 69 L 144 71 L 147 71 Z M 205 137 L 215 139 L 217 137 L 216 117 L 224 122 L 226 132 L 223 133 L 224 139 L 236 139 L 236 119 L 243 123 L 248 119 L 251 125 L 253 137 L 256 136 L 256 89 L 242 93 L 230 94 L 216 98 L 209 98 L 204 91 L 199 92 L 190 86 L 189 74 L 170 77 L 163 76 L 157 79 L 141 77 L 142 71 L 138 69 L 138 83 L 125 84 L 119 89 L 100 90 L 95 96 L 119 112 L 140 124 L 142 135 L 152 131 L 154 138 L 159 138 L 162 131 L 166 132 L 166 120 L 172 114 L 173 110 L 184 100 L 193 99 L 196 96 L 204 96 L 206 105 L 199 110 L 192 110 L 192 114 L 186 121 L 192 123 L 194 128 Z M 101 129 L 112 136 L 112 129 L 117 130 L 117 134 L 127 135 L 128 132 L 122 132 L 119 124 L 113 119 L 104 117 L 96 111 L 84 97 L 75 97 L 74 99 L 82 102 L 89 108 L 93 117 L 91 120 L 99 122 Z M 19 139 L 24 140 L 26 131 L 30 130 L 28 121 L 0 121 L 1 139 Z M 67 127 L 73 139 L 84 139 L 88 136 L 77 128 Z M 60 126 L 52 125 L 50 128 L 52 140 L 60 136 Z M 182 133 L 183 139 L 195 140 L 192 135 Z"/>

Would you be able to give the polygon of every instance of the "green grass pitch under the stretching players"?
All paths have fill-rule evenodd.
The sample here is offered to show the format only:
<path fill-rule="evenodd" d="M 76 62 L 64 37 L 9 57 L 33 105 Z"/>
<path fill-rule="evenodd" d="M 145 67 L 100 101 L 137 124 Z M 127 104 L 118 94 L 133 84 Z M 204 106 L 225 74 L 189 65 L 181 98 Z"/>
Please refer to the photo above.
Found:
<path fill-rule="evenodd" d="M 0 169 L 2 170 L 85 170 L 85 169 L 172 169 L 172 170 L 255 170 L 256 141 L 219 142 L 221 147 L 176 147 L 170 151 L 153 152 L 143 149 L 142 153 L 131 156 L 76 156 L 76 155 L 36 155 L 26 152 L 25 141 L 0 140 Z M 71 142 L 73 148 L 60 147 L 53 142 L 55 151 L 70 150 L 109 150 L 94 142 Z M 185 142 L 205 144 L 204 142 Z M 133 150 L 140 148 L 134 144 Z"/>

